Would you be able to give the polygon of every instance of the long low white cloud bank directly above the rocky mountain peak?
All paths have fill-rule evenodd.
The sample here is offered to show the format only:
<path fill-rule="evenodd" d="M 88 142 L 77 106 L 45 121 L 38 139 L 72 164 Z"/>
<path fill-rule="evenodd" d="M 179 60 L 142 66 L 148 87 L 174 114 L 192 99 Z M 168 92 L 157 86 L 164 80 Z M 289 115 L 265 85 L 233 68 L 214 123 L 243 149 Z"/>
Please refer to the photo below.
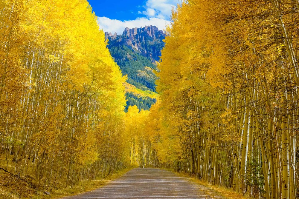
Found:
<path fill-rule="evenodd" d="M 126 27 L 135 28 L 135 27 L 144 27 L 149 25 L 154 25 L 158 27 L 160 30 L 165 29 L 167 24 L 170 24 L 170 21 L 167 21 L 163 18 L 136 18 L 135 20 L 127 20 L 127 21 L 120 21 L 118 19 L 110 19 L 107 17 L 98 17 L 97 18 L 98 24 L 100 29 L 103 29 L 104 32 L 108 33 L 117 33 L 121 35 L 123 30 Z"/>

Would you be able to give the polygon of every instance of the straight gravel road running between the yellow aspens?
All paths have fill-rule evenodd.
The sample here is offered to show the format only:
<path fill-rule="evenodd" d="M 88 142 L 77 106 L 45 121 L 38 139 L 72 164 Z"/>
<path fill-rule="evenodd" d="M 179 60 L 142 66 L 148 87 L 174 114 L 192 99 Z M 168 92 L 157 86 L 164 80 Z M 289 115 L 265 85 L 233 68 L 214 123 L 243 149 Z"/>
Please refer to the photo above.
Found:
<path fill-rule="evenodd" d="M 203 199 L 219 198 L 216 191 L 188 181 L 175 173 L 151 168 L 132 169 L 115 181 L 91 192 L 63 199 L 144 198 Z"/>

